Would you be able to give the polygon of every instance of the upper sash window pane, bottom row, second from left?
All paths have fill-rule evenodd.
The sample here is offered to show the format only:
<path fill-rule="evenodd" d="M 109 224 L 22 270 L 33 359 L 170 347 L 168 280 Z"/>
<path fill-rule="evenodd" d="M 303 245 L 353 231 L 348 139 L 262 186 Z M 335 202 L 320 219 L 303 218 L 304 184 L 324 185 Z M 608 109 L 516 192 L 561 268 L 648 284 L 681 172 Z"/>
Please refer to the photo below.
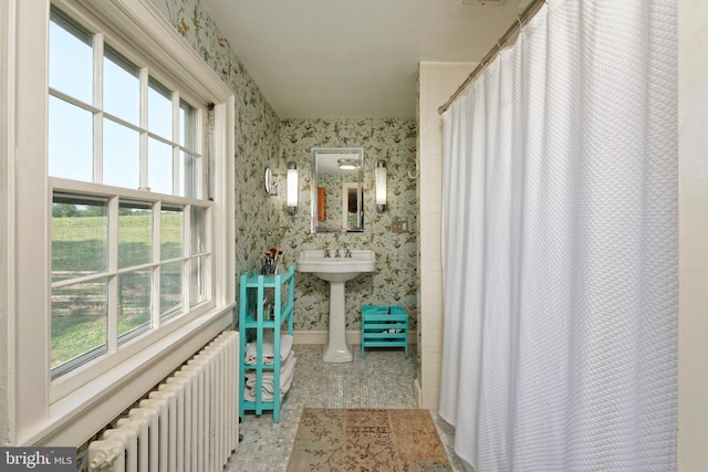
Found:
<path fill-rule="evenodd" d="M 140 187 L 140 136 L 110 119 L 103 120 L 103 182 Z"/>

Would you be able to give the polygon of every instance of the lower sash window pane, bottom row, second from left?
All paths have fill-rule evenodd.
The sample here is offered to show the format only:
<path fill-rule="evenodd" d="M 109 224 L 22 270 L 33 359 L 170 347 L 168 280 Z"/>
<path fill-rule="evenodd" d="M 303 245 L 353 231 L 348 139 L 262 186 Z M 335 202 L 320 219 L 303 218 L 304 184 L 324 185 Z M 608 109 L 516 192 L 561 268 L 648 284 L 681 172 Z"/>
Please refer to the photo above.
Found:
<path fill-rule="evenodd" d="M 118 340 L 126 342 L 150 326 L 153 270 L 118 276 Z"/>

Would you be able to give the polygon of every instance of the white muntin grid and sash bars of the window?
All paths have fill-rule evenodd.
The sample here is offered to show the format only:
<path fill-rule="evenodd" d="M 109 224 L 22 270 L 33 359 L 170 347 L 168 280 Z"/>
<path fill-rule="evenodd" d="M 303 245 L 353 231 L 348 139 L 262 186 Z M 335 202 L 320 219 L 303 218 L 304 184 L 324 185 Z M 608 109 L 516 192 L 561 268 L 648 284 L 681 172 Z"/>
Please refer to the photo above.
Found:
<path fill-rule="evenodd" d="M 58 14 L 55 14 L 55 11 Z M 155 204 L 157 201 L 155 198 L 147 198 L 147 199 L 145 198 L 146 196 L 145 193 L 152 193 L 152 192 L 142 192 L 139 197 L 136 197 L 136 196 L 131 197 L 134 200 L 139 200 L 144 202 L 150 201 L 153 203 L 154 210 L 157 210 L 157 213 L 159 213 L 160 204 L 163 202 L 168 202 L 168 204 L 179 206 L 183 209 L 183 213 L 185 214 L 185 221 L 183 221 L 183 231 L 181 231 L 183 253 L 177 258 L 171 258 L 170 260 L 162 260 L 162 258 L 158 258 L 157 260 L 154 259 L 152 263 L 146 264 L 146 266 L 150 268 L 152 276 L 153 276 L 153 289 L 152 289 L 153 305 L 150 310 L 150 326 L 146 328 L 146 332 L 159 331 L 163 328 L 165 324 L 169 323 L 170 321 L 179 319 L 187 315 L 191 317 L 190 315 L 191 313 L 195 313 L 196 315 L 198 315 L 215 306 L 214 279 L 215 279 L 216 265 L 214 263 L 210 263 L 207 266 L 207 273 L 205 274 L 206 281 L 207 281 L 207 293 L 209 294 L 207 296 L 207 300 L 192 303 L 192 301 L 190 300 L 191 292 L 189 290 L 191 264 L 194 263 L 192 261 L 195 261 L 199 256 L 190 255 L 187 253 L 188 252 L 187 248 L 190 245 L 188 240 L 191 235 L 191 229 L 189 227 L 189 214 L 188 214 L 189 208 L 191 208 L 192 206 L 199 207 L 199 208 L 206 208 L 207 212 L 211 213 L 211 207 L 212 207 L 211 204 L 209 204 L 207 200 L 209 189 L 208 189 L 208 182 L 205 182 L 205 174 L 206 174 L 205 167 L 208 165 L 208 161 L 207 161 L 208 156 L 206 156 L 204 153 L 205 134 L 207 132 L 205 127 L 206 119 L 204 118 L 204 115 L 206 113 L 206 106 L 200 106 L 200 107 L 195 106 L 195 103 L 198 103 L 198 102 L 196 99 L 188 98 L 192 96 L 190 90 L 175 90 L 170 84 L 175 83 L 176 81 L 165 80 L 165 77 L 169 77 L 168 73 L 166 73 L 164 70 L 157 69 L 152 62 L 146 61 L 144 57 L 142 57 L 142 54 L 135 53 L 135 51 L 129 49 L 129 45 L 126 46 L 125 44 L 122 44 L 119 40 L 108 35 L 110 33 L 106 33 L 100 28 L 96 28 L 96 24 L 91 22 L 87 23 L 83 18 L 77 19 L 74 15 L 74 13 L 75 12 L 67 11 L 62 7 L 54 7 L 52 4 L 50 7 L 49 18 L 50 18 L 50 21 L 55 21 L 56 18 L 59 18 L 62 20 L 63 23 L 67 23 L 72 30 L 77 30 L 79 33 L 82 34 L 82 36 L 90 36 L 91 46 L 93 51 L 93 69 L 94 69 L 93 103 L 86 104 L 77 97 L 65 94 L 52 87 L 48 87 L 48 97 L 54 96 L 58 99 L 62 99 L 69 104 L 79 106 L 82 109 L 86 109 L 87 112 L 92 113 L 93 120 L 94 120 L 94 127 L 92 129 L 92 136 L 91 136 L 94 143 L 93 181 L 92 182 L 74 181 L 66 178 L 55 178 L 52 176 L 48 176 L 48 179 L 50 181 L 49 197 L 53 201 L 54 192 L 79 193 L 79 195 L 85 193 L 91 196 L 105 196 L 105 193 L 108 193 L 105 197 L 110 199 L 110 208 L 112 206 L 115 206 L 117 208 L 117 204 L 122 198 L 126 198 L 131 196 L 132 192 L 125 191 L 127 189 L 124 190 L 123 188 L 119 188 L 119 187 L 116 188 L 116 187 L 104 183 L 105 179 L 103 176 L 103 170 L 104 170 L 104 162 L 106 157 L 104 155 L 104 149 L 103 149 L 104 147 L 103 146 L 103 136 L 104 136 L 103 127 L 104 127 L 104 122 L 106 119 L 108 119 L 110 122 L 116 123 L 121 126 L 124 126 L 127 129 L 134 130 L 138 134 L 138 141 L 139 141 L 138 158 L 139 158 L 139 176 L 140 176 L 138 189 L 148 188 L 149 175 L 147 171 L 148 170 L 147 162 L 148 162 L 148 159 L 150 158 L 150 156 L 147 153 L 148 139 L 154 138 L 165 145 L 170 146 L 171 155 L 173 155 L 173 159 L 171 159 L 173 160 L 173 169 L 171 169 L 173 195 L 167 196 L 163 193 L 153 193 L 162 197 L 157 206 Z M 65 28 L 65 25 L 61 23 L 60 23 L 60 27 Z M 49 29 L 49 24 L 48 24 L 48 29 Z M 71 30 L 67 30 L 67 31 L 70 34 L 75 33 L 75 31 L 71 31 Z M 85 39 L 86 38 L 79 38 L 79 40 L 81 41 L 84 41 Z M 139 82 L 139 87 L 140 87 L 140 93 L 138 97 L 139 116 L 138 116 L 137 124 L 129 123 L 103 109 L 102 97 L 105 95 L 105 91 L 104 91 L 105 83 L 103 81 L 103 64 L 106 57 L 108 59 L 113 57 L 112 60 L 114 62 L 117 57 L 118 62 L 125 62 L 129 64 L 131 67 L 134 69 L 136 72 L 136 75 Z M 48 59 L 49 59 L 49 46 L 48 46 Z M 148 113 L 147 113 L 147 91 L 148 91 L 150 81 L 154 81 L 159 86 L 170 92 L 170 101 L 171 101 L 171 108 L 173 108 L 173 113 L 171 113 L 173 139 L 171 140 L 166 139 L 163 136 L 159 136 L 149 130 Z M 190 141 L 194 141 L 194 145 L 195 145 L 194 148 L 184 146 L 181 144 L 181 141 L 185 140 L 185 137 L 180 136 L 180 129 L 184 127 L 184 125 L 179 123 L 180 108 L 183 106 L 183 103 L 188 105 L 190 108 L 192 108 L 196 112 L 195 126 L 197 128 L 196 129 L 197 133 L 195 136 L 190 137 L 189 139 Z M 201 198 L 195 199 L 195 198 L 181 197 L 184 191 L 186 191 L 188 188 L 187 181 L 184 180 L 186 176 L 181 175 L 183 162 L 180 159 L 184 154 L 188 154 L 199 159 L 199 166 L 198 166 L 198 169 L 196 170 L 197 174 L 195 176 L 195 181 L 197 182 L 197 188 L 195 189 L 195 193 L 200 196 Z M 56 187 L 53 182 L 60 182 L 60 187 Z M 104 192 L 104 189 L 113 189 L 113 190 L 121 189 L 121 190 Z M 178 198 L 174 198 L 174 197 L 178 197 Z M 111 214 L 111 210 L 110 210 L 110 214 Z M 114 214 L 117 214 L 115 210 L 114 210 Z M 100 365 L 103 358 L 117 353 L 121 348 L 126 346 L 126 344 L 128 344 L 133 337 L 140 337 L 140 334 L 137 334 L 132 336 L 131 338 L 126 338 L 125 336 L 118 335 L 117 333 L 117 326 L 116 326 L 117 324 L 117 314 L 116 314 L 117 282 L 116 281 L 121 273 L 127 273 L 129 271 L 119 270 L 117 268 L 117 256 L 116 256 L 117 254 L 112 254 L 111 252 L 113 251 L 114 253 L 117 253 L 117 248 L 113 248 L 111 242 L 111 241 L 117 240 L 117 219 L 116 221 L 111 221 L 111 220 L 112 219 L 110 218 L 108 225 L 110 225 L 110 233 L 113 235 L 113 238 L 110 238 L 110 241 L 108 241 L 108 253 L 110 253 L 108 260 L 110 260 L 110 264 L 113 264 L 113 266 L 107 268 L 107 271 L 102 272 L 101 274 L 92 274 L 86 277 L 80 277 L 81 280 L 85 279 L 85 281 L 103 280 L 103 279 L 107 279 L 108 281 L 108 284 L 107 284 L 107 290 L 108 290 L 107 305 L 108 306 L 107 306 L 107 314 L 106 314 L 107 329 L 106 329 L 105 349 L 103 349 L 102 346 L 97 346 L 97 348 L 91 349 L 90 352 L 84 353 L 74 359 L 67 360 L 69 365 L 75 366 L 74 368 L 71 368 L 71 367 L 65 368 L 65 364 L 55 366 L 53 368 L 50 366 L 51 382 L 52 382 L 52 386 L 56 386 L 56 388 L 52 388 L 52 398 L 56 398 L 56 399 L 62 398 L 63 392 L 66 390 L 66 388 L 63 387 L 65 381 L 61 380 L 63 377 L 73 378 L 74 376 L 72 375 L 72 371 L 74 370 L 79 373 L 83 371 L 84 369 L 81 367 L 84 364 L 87 366 Z M 209 218 L 207 221 L 206 231 L 208 234 L 211 234 L 214 232 L 212 221 L 214 221 L 212 218 Z M 153 222 L 154 222 L 153 248 L 154 248 L 154 251 L 155 251 L 155 248 L 157 248 L 156 250 L 159 253 L 159 233 L 156 232 L 156 231 L 159 231 L 158 214 L 157 216 L 154 214 Z M 49 224 L 50 224 L 49 238 L 51 241 L 52 240 L 51 218 L 49 220 Z M 207 255 L 207 259 L 212 261 L 214 251 L 215 251 L 214 241 L 211 239 L 211 243 L 208 245 L 208 249 L 204 255 Z M 49 256 L 51 260 L 51 251 Z M 162 300 L 160 268 L 165 264 L 175 263 L 175 262 L 180 262 L 181 270 L 183 270 L 181 277 L 180 277 L 180 303 L 178 303 L 175 307 L 173 307 L 173 310 L 162 313 L 163 308 L 160 307 L 160 300 Z M 132 269 L 132 270 L 135 270 L 135 269 Z M 80 279 L 62 281 L 61 285 L 51 283 L 49 289 L 50 319 L 52 316 L 51 300 L 52 300 L 53 290 L 60 286 L 69 286 L 71 284 L 79 283 Z M 51 343 L 51 332 L 50 332 L 50 343 Z M 98 353 L 98 354 L 92 355 L 91 353 Z M 77 374 L 77 376 L 81 376 L 81 374 Z M 58 392 L 56 396 L 54 396 L 55 391 Z"/>

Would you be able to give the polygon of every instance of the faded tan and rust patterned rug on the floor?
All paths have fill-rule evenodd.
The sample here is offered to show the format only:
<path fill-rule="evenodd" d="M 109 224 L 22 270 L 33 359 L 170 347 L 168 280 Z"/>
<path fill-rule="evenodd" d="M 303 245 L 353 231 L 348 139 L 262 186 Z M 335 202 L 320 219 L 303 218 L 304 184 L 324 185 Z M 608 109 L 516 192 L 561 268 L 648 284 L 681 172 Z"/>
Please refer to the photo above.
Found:
<path fill-rule="evenodd" d="M 452 470 L 427 410 L 305 408 L 289 472 Z"/>

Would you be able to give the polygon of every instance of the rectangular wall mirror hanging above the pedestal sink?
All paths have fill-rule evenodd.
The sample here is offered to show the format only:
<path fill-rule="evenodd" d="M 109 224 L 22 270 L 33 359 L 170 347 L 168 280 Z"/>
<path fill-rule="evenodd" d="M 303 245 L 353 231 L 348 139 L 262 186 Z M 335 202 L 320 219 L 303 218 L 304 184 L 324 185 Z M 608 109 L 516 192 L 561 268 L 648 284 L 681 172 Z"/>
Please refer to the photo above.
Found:
<path fill-rule="evenodd" d="M 312 232 L 364 231 L 364 149 L 312 149 Z"/>

